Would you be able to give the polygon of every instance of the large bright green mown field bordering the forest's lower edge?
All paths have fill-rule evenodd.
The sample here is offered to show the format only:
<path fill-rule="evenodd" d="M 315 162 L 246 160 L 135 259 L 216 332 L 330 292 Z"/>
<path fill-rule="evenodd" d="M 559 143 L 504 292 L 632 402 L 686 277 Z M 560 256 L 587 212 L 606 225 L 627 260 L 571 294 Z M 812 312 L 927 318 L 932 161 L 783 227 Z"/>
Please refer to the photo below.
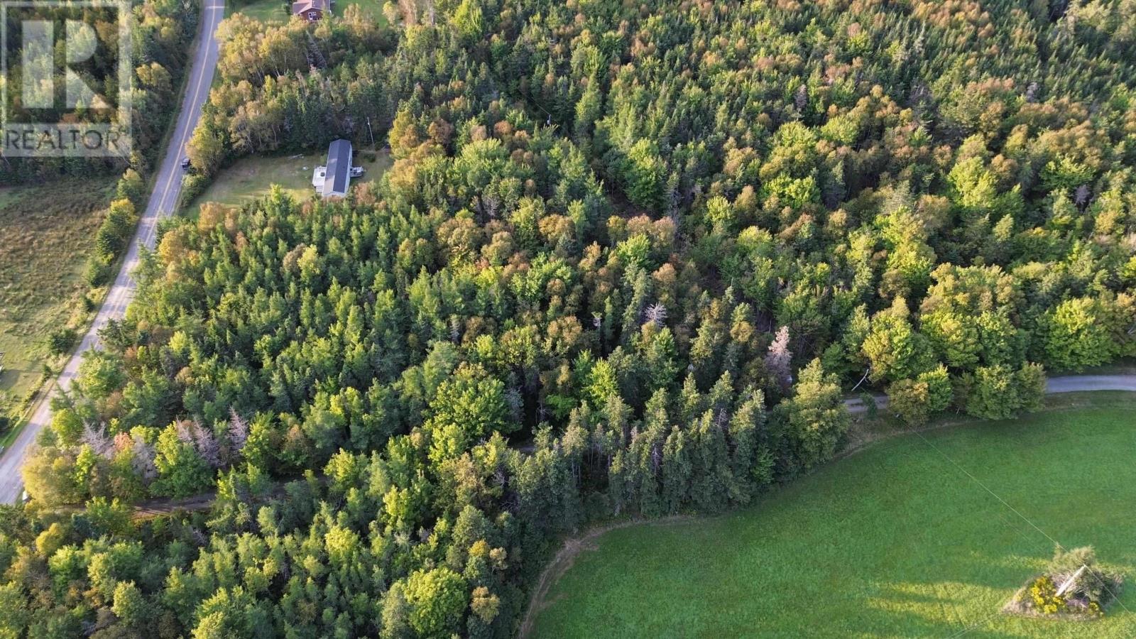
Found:
<path fill-rule="evenodd" d="M 1136 401 L 1105 396 L 896 437 L 734 514 L 607 532 L 532 634 L 1134 637 Z M 1126 575 L 1122 606 L 1089 623 L 999 614 L 1053 543 L 952 460 L 1064 547 L 1094 546 Z"/>

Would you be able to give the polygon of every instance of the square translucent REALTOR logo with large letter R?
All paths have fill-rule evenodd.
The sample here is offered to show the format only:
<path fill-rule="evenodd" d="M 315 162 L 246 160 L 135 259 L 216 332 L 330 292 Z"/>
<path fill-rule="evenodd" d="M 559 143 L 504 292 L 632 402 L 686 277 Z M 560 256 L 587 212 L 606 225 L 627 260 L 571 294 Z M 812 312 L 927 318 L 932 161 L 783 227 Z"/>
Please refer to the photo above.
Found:
<path fill-rule="evenodd" d="M 0 0 L 0 155 L 131 153 L 130 0 Z"/>

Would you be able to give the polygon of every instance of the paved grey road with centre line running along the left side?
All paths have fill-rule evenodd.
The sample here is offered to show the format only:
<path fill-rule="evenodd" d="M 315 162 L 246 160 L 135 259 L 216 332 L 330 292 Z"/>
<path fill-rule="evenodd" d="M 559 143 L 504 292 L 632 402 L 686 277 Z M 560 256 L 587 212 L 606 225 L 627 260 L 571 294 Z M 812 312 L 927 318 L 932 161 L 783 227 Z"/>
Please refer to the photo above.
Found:
<path fill-rule="evenodd" d="M 115 279 L 114 285 L 107 292 L 107 299 L 102 302 L 91 329 L 83 335 L 83 341 L 67 362 L 56 389 L 67 389 L 72 380 L 78 372 L 80 362 L 84 351 L 99 346 L 99 331 L 107 325 L 109 320 L 122 318 L 126 313 L 126 305 L 134 297 L 134 279 L 131 273 L 139 263 L 139 247 L 144 246 L 152 249 L 158 232 L 158 219 L 174 211 L 177 198 L 182 192 L 182 166 L 181 159 L 183 149 L 201 117 L 201 106 L 209 97 L 209 86 L 212 84 L 214 70 L 217 68 L 217 25 L 225 17 L 224 0 L 206 0 L 204 15 L 201 19 L 201 32 L 198 34 L 198 48 L 193 53 L 193 63 L 190 69 L 189 83 L 185 86 L 185 96 L 182 101 L 182 110 L 177 115 L 177 124 L 170 138 L 169 147 L 166 149 L 166 157 L 161 160 L 158 179 L 153 184 L 153 192 L 147 205 L 145 214 L 139 221 L 139 227 L 131 242 L 123 267 Z M 19 498 L 23 492 L 23 480 L 19 475 L 19 467 L 24 463 L 24 456 L 28 447 L 35 441 L 40 430 L 51 422 L 50 401 L 44 398 L 35 406 L 31 421 L 20 431 L 19 437 L 11 447 L 0 457 L 0 503 L 10 504 Z"/>

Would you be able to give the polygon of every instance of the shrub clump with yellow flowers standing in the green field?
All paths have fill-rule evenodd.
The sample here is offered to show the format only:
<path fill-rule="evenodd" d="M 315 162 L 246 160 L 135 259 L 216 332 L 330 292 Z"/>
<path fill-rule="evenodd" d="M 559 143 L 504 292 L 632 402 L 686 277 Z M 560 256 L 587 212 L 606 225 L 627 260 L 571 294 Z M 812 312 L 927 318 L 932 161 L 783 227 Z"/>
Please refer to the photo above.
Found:
<path fill-rule="evenodd" d="M 1096 565 L 1092 547 L 1053 554 L 1045 572 L 1018 590 L 1005 612 L 1027 616 L 1094 619 L 1102 616 L 1124 582 L 1118 573 Z"/>

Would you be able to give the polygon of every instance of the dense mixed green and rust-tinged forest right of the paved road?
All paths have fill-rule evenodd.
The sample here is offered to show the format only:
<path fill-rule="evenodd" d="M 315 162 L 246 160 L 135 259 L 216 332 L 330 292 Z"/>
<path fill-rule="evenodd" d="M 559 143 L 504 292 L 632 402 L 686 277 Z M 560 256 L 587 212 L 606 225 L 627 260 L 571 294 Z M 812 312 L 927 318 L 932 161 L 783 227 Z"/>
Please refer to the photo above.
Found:
<path fill-rule="evenodd" d="M 1131 0 L 399 7 L 223 26 L 194 180 L 364 123 L 394 166 L 166 225 L 0 630 L 508 637 L 558 534 L 747 504 L 858 384 L 1000 417 L 1136 354 Z"/>

